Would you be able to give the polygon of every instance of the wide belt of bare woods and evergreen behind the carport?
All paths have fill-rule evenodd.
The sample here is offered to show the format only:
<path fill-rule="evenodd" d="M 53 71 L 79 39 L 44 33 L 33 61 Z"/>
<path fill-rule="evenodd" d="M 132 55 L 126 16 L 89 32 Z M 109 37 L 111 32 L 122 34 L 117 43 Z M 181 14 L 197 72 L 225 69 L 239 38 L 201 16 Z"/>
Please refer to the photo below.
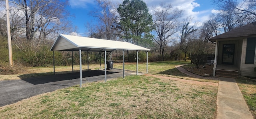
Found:
<path fill-rule="evenodd" d="M 23 66 L 52 66 L 52 44 L 59 33 L 74 35 L 76 27 L 65 0 L 9 0 L 10 28 L 14 64 Z M 111 0 L 94 0 L 98 9 L 90 12 L 98 24 L 87 23 L 86 37 L 117 40 L 151 49 L 149 61 L 186 60 L 192 55 L 214 54 L 215 44 L 209 38 L 256 20 L 255 0 L 212 0 L 216 14 L 209 15 L 201 27 L 191 25 L 192 18 L 181 19 L 183 11 L 172 4 L 159 3 L 148 7 L 142 0 L 124 0 L 115 5 Z M 0 64 L 8 64 L 8 42 L 5 2 L 0 0 Z M 116 10 L 117 12 L 112 12 Z M 103 53 L 102 53 L 103 54 Z M 114 51 L 112 59 L 122 61 L 122 51 Z M 99 63 L 100 53 L 89 53 L 90 63 Z M 103 57 L 103 55 L 102 55 Z M 109 54 L 108 54 L 109 57 Z M 126 51 L 126 62 L 134 62 L 135 51 Z M 71 52 L 55 52 L 57 66 L 71 65 Z M 200 57 L 196 58 L 200 60 Z M 139 52 L 139 62 L 146 53 Z M 82 53 L 86 64 L 87 53 Z M 197 61 L 193 61 L 197 62 Z M 79 55 L 74 52 L 74 64 Z"/>

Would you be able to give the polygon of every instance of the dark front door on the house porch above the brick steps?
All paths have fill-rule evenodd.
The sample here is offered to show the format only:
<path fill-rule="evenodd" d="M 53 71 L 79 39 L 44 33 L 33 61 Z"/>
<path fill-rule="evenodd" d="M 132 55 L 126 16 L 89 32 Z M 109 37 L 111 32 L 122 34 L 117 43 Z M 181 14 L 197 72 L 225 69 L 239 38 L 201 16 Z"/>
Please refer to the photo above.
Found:
<path fill-rule="evenodd" d="M 222 64 L 234 64 L 235 44 L 224 44 L 222 52 Z"/>

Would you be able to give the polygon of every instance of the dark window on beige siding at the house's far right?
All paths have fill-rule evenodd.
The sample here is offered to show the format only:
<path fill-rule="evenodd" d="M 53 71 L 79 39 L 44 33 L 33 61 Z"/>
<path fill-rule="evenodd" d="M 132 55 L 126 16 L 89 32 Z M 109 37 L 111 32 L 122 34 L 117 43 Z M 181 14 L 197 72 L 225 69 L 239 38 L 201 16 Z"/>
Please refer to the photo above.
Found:
<path fill-rule="evenodd" d="M 256 62 L 256 37 L 247 38 L 245 64 L 254 64 Z"/>

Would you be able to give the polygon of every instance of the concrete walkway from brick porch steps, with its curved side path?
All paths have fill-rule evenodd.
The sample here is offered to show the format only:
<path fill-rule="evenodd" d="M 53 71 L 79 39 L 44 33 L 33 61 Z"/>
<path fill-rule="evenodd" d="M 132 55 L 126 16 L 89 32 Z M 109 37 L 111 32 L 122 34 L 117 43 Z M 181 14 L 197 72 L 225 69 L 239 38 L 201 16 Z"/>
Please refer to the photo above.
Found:
<path fill-rule="evenodd" d="M 175 67 L 188 76 L 202 79 L 217 79 L 215 77 L 193 74 L 180 66 L 183 65 Z M 219 77 L 216 119 L 254 119 L 234 78 Z"/>

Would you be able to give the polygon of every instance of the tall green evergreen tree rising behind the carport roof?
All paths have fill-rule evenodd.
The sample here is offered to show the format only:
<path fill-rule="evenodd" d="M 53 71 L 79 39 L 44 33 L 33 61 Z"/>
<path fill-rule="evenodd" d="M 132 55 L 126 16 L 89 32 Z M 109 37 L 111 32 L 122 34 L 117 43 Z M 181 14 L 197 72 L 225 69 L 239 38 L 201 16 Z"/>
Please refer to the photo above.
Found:
<path fill-rule="evenodd" d="M 124 0 L 118 7 L 120 37 L 126 42 L 144 46 L 152 43 L 152 16 L 142 0 Z"/>

